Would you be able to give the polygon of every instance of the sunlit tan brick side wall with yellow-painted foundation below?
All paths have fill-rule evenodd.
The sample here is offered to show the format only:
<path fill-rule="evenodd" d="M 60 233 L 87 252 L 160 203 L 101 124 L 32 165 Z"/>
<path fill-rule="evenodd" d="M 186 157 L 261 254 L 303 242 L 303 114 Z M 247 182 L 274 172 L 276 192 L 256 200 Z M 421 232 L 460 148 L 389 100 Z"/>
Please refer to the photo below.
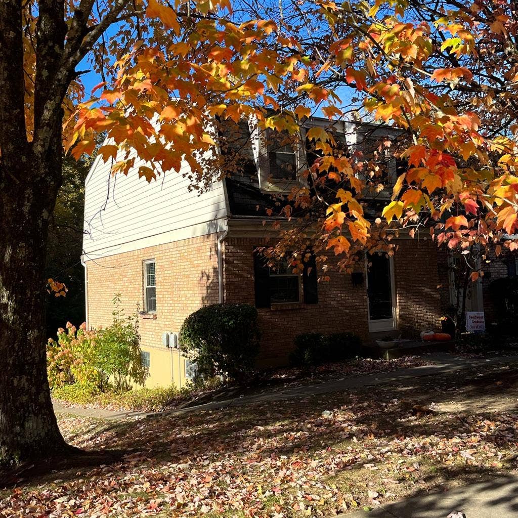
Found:
<path fill-rule="evenodd" d="M 139 318 L 141 346 L 150 353 L 148 386 L 167 385 L 173 376 L 175 382 L 183 378 L 183 371 L 178 372 L 183 361 L 176 351 L 163 348 L 162 334 L 178 332 L 186 316 L 218 302 L 217 244 L 217 235 L 211 234 L 87 261 L 88 320 L 91 327 L 99 327 L 111 324 L 116 293 L 126 314 L 137 304 L 143 308 L 142 262 L 155 260 L 156 320 Z"/>

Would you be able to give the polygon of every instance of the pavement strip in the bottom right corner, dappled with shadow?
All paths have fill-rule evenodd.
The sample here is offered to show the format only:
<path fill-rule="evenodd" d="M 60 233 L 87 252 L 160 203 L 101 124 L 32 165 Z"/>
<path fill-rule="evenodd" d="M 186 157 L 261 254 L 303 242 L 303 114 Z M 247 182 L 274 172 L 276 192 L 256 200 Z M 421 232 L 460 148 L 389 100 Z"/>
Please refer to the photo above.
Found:
<path fill-rule="evenodd" d="M 447 518 L 453 511 L 466 518 L 518 516 L 518 477 L 507 475 L 447 492 L 425 493 L 341 518 Z"/>

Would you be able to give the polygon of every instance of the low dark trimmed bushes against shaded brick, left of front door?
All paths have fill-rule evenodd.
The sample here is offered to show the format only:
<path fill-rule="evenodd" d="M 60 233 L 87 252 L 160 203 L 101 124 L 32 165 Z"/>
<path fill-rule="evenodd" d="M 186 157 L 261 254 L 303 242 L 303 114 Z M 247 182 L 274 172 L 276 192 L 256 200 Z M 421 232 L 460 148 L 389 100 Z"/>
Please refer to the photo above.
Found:
<path fill-rule="evenodd" d="M 295 337 L 294 343 L 290 362 L 305 367 L 354 358 L 362 348 L 362 340 L 352 333 L 303 333 Z"/>

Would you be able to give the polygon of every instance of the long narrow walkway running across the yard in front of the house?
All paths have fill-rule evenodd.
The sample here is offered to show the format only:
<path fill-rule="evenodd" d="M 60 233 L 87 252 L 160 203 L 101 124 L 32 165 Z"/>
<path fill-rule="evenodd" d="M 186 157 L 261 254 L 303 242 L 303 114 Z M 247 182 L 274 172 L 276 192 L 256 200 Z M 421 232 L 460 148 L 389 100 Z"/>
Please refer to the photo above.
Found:
<path fill-rule="evenodd" d="M 450 374 L 457 372 L 458 370 L 472 369 L 484 365 L 507 365 L 511 363 L 517 363 L 518 356 L 497 356 L 494 358 L 486 359 L 465 359 L 457 358 L 453 354 L 438 354 L 427 356 L 426 360 L 429 361 L 430 364 L 423 365 L 421 367 L 411 367 L 407 369 L 399 369 L 393 370 L 391 372 L 380 372 L 377 374 L 369 375 L 348 376 L 346 378 L 334 379 L 333 381 L 324 383 L 289 387 L 287 389 L 275 392 L 263 391 L 260 394 L 251 394 L 239 398 L 226 399 L 223 401 L 213 401 L 206 403 L 205 405 L 198 405 L 195 407 L 175 410 L 165 410 L 163 412 L 113 412 L 110 410 L 97 408 L 65 407 L 57 401 L 54 402 L 54 411 L 56 413 L 62 414 L 83 415 L 110 420 L 155 418 L 170 414 L 186 414 L 197 412 L 199 410 L 227 408 L 232 406 L 250 405 L 252 403 L 265 401 L 278 401 L 282 399 L 303 398 L 316 394 L 341 392 L 346 389 L 354 389 L 355 387 L 380 385 L 399 380 L 420 378 L 422 376 Z"/>

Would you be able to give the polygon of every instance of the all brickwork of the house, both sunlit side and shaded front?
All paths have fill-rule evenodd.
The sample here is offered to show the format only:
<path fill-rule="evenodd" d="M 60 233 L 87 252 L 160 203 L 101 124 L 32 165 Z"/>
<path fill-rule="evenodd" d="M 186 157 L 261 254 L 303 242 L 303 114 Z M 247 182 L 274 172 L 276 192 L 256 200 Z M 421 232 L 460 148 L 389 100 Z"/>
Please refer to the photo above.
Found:
<path fill-rule="evenodd" d="M 265 242 L 255 238 L 225 239 L 226 302 L 254 304 L 252 252 L 262 244 Z M 162 333 L 178 331 L 190 313 L 203 305 L 218 302 L 217 235 L 88 261 L 91 326 L 111 323 L 111 299 L 115 293 L 121 293 L 126 313 L 134 311 L 137 304 L 142 308 L 142 262 L 153 258 L 156 263 L 156 320 L 140 318 L 139 321 L 143 349 L 151 352 L 152 348 L 161 347 Z M 330 263 L 333 261 L 329 258 Z M 394 270 L 401 332 L 405 337 L 411 337 L 424 328 L 437 329 L 440 300 L 435 244 L 431 241 L 399 241 Z M 329 277 L 329 282 L 319 283 L 318 304 L 258 309 L 263 333 L 260 364 L 285 362 L 293 338 L 299 333 L 353 332 L 365 341 L 370 340 L 365 279 L 362 285 L 354 286 L 349 274 L 332 270 Z M 151 362 L 153 364 L 153 357 Z M 151 384 L 160 383 L 152 380 Z"/>

